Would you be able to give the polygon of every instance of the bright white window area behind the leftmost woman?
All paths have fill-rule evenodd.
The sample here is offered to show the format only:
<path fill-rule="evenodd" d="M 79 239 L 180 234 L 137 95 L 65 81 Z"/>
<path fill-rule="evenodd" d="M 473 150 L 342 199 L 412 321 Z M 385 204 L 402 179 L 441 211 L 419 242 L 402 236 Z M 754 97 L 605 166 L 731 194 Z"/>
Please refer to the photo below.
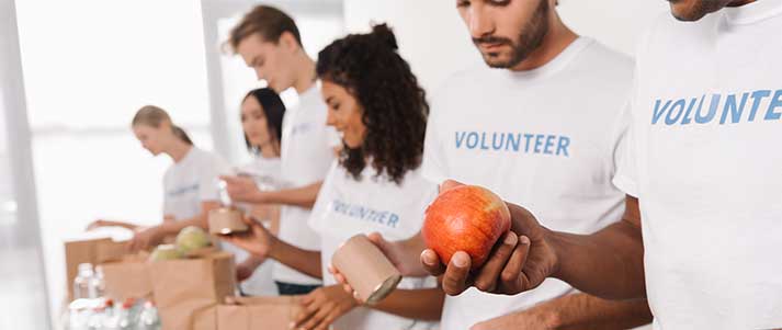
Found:
<path fill-rule="evenodd" d="M 80 236 L 99 217 L 161 220 L 161 181 L 171 160 L 141 148 L 129 129 L 135 112 L 159 105 L 196 146 L 212 148 L 201 7 L 193 0 L 15 3 L 35 197 L 56 312 L 71 285 L 65 283 L 64 239 Z M 115 238 L 129 235 L 118 231 Z"/>

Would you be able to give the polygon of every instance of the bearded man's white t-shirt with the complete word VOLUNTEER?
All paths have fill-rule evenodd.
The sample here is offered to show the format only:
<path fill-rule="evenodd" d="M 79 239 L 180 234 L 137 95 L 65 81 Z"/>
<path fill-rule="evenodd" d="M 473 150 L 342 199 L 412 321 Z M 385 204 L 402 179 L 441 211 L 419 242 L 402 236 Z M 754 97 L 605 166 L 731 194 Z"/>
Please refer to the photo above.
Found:
<path fill-rule="evenodd" d="M 554 230 L 588 234 L 619 220 L 625 195 L 611 179 L 632 70 L 626 56 L 580 37 L 534 70 L 481 66 L 453 77 L 433 98 L 423 175 L 488 187 Z M 471 288 L 445 298 L 442 329 L 571 292 L 554 278 L 515 296 Z"/>

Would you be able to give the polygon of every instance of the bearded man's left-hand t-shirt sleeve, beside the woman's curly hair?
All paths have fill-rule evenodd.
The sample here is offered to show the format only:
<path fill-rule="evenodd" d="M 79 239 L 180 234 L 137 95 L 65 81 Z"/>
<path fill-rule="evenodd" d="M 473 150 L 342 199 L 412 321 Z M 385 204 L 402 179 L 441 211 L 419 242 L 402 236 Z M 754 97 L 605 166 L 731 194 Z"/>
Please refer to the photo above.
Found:
<path fill-rule="evenodd" d="M 437 100 L 432 102 L 432 111 L 427 124 L 427 134 L 423 140 L 423 160 L 421 162 L 421 174 L 429 181 L 440 184 L 449 179 L 445 162 L 445 150 L 438 129 L 439 109 Z"/>

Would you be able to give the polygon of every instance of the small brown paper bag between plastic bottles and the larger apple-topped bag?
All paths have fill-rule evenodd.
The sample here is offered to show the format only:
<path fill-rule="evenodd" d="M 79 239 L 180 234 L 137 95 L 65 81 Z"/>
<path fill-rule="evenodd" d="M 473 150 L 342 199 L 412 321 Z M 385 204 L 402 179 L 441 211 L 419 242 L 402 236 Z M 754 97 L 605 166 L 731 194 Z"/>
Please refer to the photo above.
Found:
<path fill-rule="evenodd" d="M 101 263 L 105 296 L 115 301 L 149 298 L 152 295 L 152 283 L 149 278 L 147 258 L 148 253 L 138 253 Z"/>

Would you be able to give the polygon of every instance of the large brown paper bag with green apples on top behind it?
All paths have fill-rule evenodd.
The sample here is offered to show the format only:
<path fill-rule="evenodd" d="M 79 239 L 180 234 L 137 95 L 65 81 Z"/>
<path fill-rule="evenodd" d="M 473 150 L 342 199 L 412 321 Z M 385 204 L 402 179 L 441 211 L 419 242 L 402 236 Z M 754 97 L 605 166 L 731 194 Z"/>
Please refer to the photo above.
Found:
<path fill-rule="evenodd" d="M 234 254 L 158 261 L 149 269 L 163 329 L 217 329 L 216 306 L 236 287 Z"/>

